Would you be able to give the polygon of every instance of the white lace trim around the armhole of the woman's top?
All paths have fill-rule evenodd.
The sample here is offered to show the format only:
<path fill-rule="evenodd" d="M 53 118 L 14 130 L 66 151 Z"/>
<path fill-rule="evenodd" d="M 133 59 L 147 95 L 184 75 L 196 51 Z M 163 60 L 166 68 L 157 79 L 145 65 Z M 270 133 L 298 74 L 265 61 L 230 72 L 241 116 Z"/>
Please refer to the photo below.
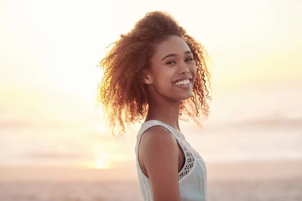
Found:
<path fill-rule="evenodd" d="M 190 145 L 186 143 L 185 137 L 183 136 L 183 134 L 181 134 L 179 131 L 177 131 L 174 127 L 171 127 L 168 124 L 165 124 L 165 123 L 163 123 L 161 121 L 157 121 L 157 120 L 146 121 L 144 124 L 142 124 L 141 130 L 139 131 L 139 134 L 137 136 L 137 142 L 136 142 L 136 146 L 135 146 L 136 152 L 138 151 L 138 145 L 141 140 L 141 135 L 147 129 L 151 128 L 152 126 L 162 126 L 162 127 L 166 128 L 175 137 L 177 142 L 180 144 L 180 147 L 183 149 L 183 153 L 185 155 L 185 165 L 178 173 L 178 181 L 182 180 L 183 178 L 186 177 L 186 175 L 189 174 L 189 172 L 193 169 L 194 165 L 196 164 L 196 159 L 194 157 L 196 154 L 191 151 Z M 138 156 L 137 156 L 137 160 L 138 160 Z M 142 171 L 141 171 L 141 173 L 142 173 Z M 142 174 L 144 174 L 144 173 L 142 173 Z M 144 176 L 145 176 L 145 174 L 144 174 Z"/>

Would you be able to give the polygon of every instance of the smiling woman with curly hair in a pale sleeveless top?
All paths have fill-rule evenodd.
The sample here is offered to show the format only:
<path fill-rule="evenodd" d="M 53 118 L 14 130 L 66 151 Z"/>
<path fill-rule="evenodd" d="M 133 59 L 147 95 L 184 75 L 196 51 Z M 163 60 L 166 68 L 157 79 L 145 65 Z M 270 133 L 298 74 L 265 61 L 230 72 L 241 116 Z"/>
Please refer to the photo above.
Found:
<path fill-rule="evenodd" d="M 144 200 L 207 200 L 203 159 L 180 132 L 185 114 L 208 115 L 204 47 L 165 12 L 149 12 L 100 62 L 99 99 L 111 126 L 145 118 L 135 146 Z"/>

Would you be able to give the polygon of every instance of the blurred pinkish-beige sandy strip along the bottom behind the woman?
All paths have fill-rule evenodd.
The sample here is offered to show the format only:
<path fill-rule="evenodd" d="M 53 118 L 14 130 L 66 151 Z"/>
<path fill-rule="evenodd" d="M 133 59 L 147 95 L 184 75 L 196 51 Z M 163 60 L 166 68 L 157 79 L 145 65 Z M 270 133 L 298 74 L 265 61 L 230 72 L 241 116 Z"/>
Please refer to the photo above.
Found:
<path fill-rule="evenodd" d="M 210 201 L 302 200 L 302 161 L 209 164 Z M 1 167 L 3 201 L 142 201 L 136 172 Z M 119 179 L 117 179 L 119 178 Z"/>

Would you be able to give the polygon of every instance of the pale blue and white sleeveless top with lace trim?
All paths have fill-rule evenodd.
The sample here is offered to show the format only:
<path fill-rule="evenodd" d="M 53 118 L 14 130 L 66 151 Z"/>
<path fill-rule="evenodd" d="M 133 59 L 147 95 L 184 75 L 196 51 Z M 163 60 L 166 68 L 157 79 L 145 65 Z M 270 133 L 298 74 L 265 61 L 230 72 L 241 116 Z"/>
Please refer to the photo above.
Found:
<path fill-rule="evenodd" d="M 150 179 L 142 172 L 138 162 L 138 145 L 142 134 L 153 126 L 162 126 L 166 128 L 177 140 L 185 155 L 183 168 L 178 172 L 178 183 L 181 201 L 206 201 L 207 200 L 207 181 L 206 165 L 190 144 L 187 142 L 182 133 L 161 121 L 150 120 L 141 125 L 138 131 L 135 146 L 136 168 L 138 180 L 141 188 L 141 194 L 144 201 L 152 201 L 152 192 Z"/>

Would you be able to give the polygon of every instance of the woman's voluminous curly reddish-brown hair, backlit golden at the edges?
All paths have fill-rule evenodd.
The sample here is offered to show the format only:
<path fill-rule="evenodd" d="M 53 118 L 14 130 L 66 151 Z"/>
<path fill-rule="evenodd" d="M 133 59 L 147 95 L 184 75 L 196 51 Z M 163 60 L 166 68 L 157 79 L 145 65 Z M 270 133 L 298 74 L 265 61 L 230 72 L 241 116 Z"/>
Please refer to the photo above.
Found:
<path fill-rule="evenodd" d="M 153 11 L 140 19 L 130 32 L 121 34 L 119 40 L 110 44 L 108 47 L 113 47 L 99 62 L 98 67 L 103 68 L 104 77 L 98 85 L 98 101 L 105 108 L 112 130 L 118 125 L 125 132 L 125 124 L 145 118 L 148 100 L 143 83 L 144 70 L 151 68 L 150 58 L 156 51 L 156 45 L 171 35 L 180 36 L 187 43 L 197 68 L 192 96 L 180 102 L 180 120 L 186 120 L 181 116 L 184 113 L 200 125 L 197 121 L 200 113 L 205 118 L 209 115 L 206 101 L 211 100 L 207 51 L 170 14 Z"/>

